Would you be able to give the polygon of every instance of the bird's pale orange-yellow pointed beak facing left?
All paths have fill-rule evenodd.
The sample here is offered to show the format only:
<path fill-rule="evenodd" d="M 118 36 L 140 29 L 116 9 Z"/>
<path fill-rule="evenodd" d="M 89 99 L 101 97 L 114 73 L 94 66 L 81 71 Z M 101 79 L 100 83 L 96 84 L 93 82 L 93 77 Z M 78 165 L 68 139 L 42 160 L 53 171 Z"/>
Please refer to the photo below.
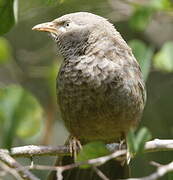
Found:
<path fill-rule="evenodd" d="M 32 30 L 50 32 L 50 33 L 55 33 L 55 34 L 57 33 L 56 25 L 53 22 L 38 24 L 34 26 Z"/>

